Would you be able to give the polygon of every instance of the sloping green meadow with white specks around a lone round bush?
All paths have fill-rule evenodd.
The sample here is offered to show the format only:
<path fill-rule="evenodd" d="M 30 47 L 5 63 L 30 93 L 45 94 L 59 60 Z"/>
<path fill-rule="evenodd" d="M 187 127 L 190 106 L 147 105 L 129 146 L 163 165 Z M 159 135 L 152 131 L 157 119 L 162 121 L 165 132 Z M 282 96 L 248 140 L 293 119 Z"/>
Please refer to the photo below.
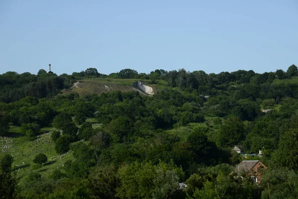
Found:
<path fill-rule="evenodd" d="M 20 132 L 20 127 L 10 126 L 10 137 L 0 137 L 0 156 L 5 153 L 13 156 L 12 169 L 20 178 L 20 184 L 32 171 L 38 171 L 42 177 L 48 177 L 55 168 L 63 167 L 66 160 L 74 159 L 72 152 L 63 155 L 56 153 L 55 144 L 51 139 L 53 129 L 53 127 L 42 128 L 38 138 L 29 141 Z M 48 162 L 40 168 L 33 163 L 38 153 L 44 153 L 48 157 Z"/>

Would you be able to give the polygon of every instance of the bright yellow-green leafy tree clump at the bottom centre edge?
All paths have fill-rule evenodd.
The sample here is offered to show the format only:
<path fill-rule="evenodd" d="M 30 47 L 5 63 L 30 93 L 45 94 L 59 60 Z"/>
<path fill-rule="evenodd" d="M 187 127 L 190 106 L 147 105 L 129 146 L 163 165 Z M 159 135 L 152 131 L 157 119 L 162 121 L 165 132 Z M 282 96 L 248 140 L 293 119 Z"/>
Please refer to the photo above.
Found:
<path fill-rule="evenodd" d="M 178 191 L 179 180 L 184 178 L 181 168 L 173 162 L 166 164 L 159 162 L 122 165 L 118 170 L 120 186 L 116 188 L 116 197 L 121 199 L 166 199 Z"/>

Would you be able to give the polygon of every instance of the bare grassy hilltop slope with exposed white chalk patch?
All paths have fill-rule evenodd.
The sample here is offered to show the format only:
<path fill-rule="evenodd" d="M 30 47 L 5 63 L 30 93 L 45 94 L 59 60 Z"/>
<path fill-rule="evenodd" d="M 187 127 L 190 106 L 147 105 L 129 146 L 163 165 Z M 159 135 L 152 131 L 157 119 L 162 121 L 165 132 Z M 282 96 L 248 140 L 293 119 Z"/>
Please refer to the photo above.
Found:
<path fill-rule="evenodd" d="M 134 87 L 133 84 L 137 82 L 144 82 L 145 87 L 149 88 L 149 92 L 140 87 Z M 88 78 L 79 80 L 74 83 L 74 86 L 67 90 L 62 90 L 62 94 L 68 95 L 77 93 L 80 97 L 86 94 L 102 94 L 106 92 L 121 91 L 131 92 L 139 91 L 141 94 L 153 95 L 159 89 L 166 85 L 165 81 L 159 80 L 157 84 L 150 84 L 151 80 L 137 80 L 137 79 L 108 79 L 108 78 Z"/>

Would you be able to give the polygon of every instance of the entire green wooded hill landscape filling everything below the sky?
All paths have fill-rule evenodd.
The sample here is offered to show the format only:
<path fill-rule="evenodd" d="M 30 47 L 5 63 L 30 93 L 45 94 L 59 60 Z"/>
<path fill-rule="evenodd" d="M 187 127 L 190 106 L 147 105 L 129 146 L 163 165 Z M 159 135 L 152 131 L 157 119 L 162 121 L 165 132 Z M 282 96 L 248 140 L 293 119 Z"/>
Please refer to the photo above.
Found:
<path fill-rule="evenodd" d="M 154 95 L 130 90 L 136 81 Z M 298 198 L 297 124 L 295 65 L 263 74 L 7 72 L 0 198 Z M 258 183 L 232 172 L 243 160 L 266 165 Z"/>

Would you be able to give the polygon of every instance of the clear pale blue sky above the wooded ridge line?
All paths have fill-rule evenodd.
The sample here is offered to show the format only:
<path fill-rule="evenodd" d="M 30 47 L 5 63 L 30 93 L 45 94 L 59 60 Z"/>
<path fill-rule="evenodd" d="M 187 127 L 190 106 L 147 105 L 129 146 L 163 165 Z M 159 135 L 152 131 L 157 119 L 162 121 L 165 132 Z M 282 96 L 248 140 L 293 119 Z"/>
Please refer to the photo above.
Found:
<path fill-rule="evenodd" d="M 0 74 L 298 66 L 298 0 L 0 0 Z"/>

